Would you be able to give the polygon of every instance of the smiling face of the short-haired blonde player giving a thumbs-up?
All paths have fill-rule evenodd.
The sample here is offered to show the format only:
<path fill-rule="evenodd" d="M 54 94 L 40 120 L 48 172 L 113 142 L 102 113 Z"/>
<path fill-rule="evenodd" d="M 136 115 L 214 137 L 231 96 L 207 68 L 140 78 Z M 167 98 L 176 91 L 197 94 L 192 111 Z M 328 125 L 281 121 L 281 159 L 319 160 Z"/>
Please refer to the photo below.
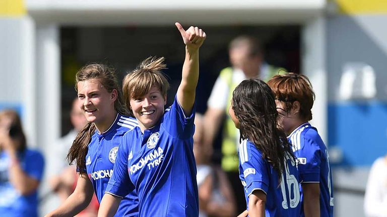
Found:
<path fill-rule="evenodd" d="M 139 98 L 132 98 L 131 109 L 139 121 L 140 129 L 144 132 L 157 124 L 164 114 L 166 95 L 162 95 L 158 87 L 152 86 L 147 94 Z"/>

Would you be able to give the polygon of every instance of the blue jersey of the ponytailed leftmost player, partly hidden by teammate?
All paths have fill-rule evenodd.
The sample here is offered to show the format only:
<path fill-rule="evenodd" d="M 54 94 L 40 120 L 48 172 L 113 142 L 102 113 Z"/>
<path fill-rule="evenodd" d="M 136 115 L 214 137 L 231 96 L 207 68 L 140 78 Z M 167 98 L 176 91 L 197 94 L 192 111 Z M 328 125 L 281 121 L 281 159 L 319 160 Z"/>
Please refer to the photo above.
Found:
<path fill-rule="evenodd" d="M 136 119 L 117 114 L 107 131 L 99 133 L 96 130 L 91 138 L 86 155 L 86 170 L 99 202 L 113 173 L 119 142 L 128 130 L 136 126 Z M 127 145 L 130 146 L 131 143 Z M 123 196 L 115 216 L 138 216 L 138 197 L 135 191 Z"/>

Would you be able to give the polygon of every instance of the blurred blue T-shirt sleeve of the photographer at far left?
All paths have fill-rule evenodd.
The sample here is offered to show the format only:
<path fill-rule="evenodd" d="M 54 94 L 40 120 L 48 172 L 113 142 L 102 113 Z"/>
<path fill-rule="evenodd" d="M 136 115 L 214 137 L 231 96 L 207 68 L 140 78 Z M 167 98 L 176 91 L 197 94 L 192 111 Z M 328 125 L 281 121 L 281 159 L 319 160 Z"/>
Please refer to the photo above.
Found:
<path fill-rule="evenodd" d="M 25 156 L 25 172 L 28 176 L 41 180 L 44 171 L 44 158 L 38 151 L 28 151 Z"/>

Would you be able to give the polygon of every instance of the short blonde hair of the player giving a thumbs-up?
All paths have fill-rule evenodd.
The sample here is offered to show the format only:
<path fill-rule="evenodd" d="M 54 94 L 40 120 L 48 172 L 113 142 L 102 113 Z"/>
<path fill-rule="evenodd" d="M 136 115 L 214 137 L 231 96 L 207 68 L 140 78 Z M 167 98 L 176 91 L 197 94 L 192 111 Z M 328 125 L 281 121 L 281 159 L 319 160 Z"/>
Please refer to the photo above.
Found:
<path fill-rule="evenodd" d="M 153 86 L 159 88 L 161 94 L 166 96 L 169 82 L 162 73 L 166 68 L 164 57 L 148 57 L 134 71 L 128 73 L 122 83 L 126 107 L 130 108 L 131 99 L 144 96 Z"/>

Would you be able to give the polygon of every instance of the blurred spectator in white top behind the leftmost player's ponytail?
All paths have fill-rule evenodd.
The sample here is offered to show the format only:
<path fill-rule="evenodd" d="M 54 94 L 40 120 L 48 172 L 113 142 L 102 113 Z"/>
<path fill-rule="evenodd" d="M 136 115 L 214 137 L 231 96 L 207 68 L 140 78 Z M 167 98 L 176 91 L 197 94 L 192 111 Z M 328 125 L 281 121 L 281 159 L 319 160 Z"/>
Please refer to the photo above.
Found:
<path fill-rule="evenodd" d="M 58 194 L 61 202 L 64 202 L 73 192 L 77 185 L 78 173 L 74 165 L 68 165 L 66 161 L 67 154 L 78 132 L 82 130 L 87 121 L 78 103 L 78 98 L 73 100 L 73 105 L 70 113 L 72 129 L 66 136 L 60 138 L 55 144 L 55 153 L 53 155 L 53 171 L 59 171 L 58 174 L 50 177 L 50 186 L 52 191 Z M 59 160 L 58 160 L 59 159 Z M 90 205 L 80 212 L 77 216 L 97 216 L 99 203 L 94 195 Z"/>

